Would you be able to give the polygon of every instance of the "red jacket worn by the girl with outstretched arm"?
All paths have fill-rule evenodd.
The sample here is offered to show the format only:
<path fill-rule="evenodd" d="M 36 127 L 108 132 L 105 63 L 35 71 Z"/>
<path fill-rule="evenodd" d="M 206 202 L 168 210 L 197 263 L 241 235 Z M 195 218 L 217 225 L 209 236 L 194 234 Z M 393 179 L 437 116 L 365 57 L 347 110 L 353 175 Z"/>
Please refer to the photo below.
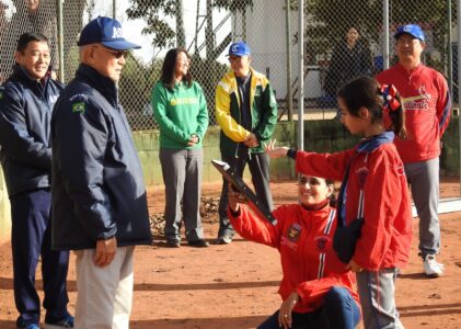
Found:
<path fill-rule="evenodd" d="M 410 193 L 402 160 L 391 141 L 370 152 L 356 152 L 357 147 L 336 154 L 298 151 L 296 157 L 298 172 L 342 180 L 356 152 L 346 185 L 345 218 L 346 224 L 356 219 L 362 188 L 365 223 L 353 259 L 368 271 L 403 268 L 410 257 Z"/>

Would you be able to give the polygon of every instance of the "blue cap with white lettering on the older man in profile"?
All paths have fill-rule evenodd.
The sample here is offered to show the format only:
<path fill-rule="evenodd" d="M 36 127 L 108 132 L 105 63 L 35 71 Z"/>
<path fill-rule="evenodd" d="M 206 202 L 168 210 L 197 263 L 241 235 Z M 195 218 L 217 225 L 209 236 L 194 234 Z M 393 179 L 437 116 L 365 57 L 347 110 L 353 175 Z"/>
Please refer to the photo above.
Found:
<path fill-rule="evenodd" d="M 80 33 L 78 46 L 102 44 L 116 50 L 138 49 L 141 46 L 125 39 L 122 24 L 111 18 L 99 16 L 87 24 Z"/>

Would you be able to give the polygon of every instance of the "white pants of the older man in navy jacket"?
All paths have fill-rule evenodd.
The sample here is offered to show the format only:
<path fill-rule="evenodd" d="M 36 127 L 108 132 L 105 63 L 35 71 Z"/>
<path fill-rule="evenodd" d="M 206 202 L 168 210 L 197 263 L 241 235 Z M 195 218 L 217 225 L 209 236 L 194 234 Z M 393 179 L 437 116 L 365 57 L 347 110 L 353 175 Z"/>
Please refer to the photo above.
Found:
<path fill-rule="evenodd" d="M 105 268 L 94 264 L 95 249 L 76 251 L 76 329 L 128 329 L 135 247 L 117 248 Z"/>

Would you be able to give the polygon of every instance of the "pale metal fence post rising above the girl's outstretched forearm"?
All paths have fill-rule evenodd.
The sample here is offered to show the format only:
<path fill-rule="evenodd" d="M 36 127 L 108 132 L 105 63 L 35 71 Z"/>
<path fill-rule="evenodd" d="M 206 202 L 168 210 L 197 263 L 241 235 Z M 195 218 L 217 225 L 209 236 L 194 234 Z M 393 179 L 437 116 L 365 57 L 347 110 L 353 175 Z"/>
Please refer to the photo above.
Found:
<path fill-rule="evenodd" d="M 461 0 L 459 0 L 461 1 Z M 298 149 L 304 149 L 304 1 L 298 0 Z"/>

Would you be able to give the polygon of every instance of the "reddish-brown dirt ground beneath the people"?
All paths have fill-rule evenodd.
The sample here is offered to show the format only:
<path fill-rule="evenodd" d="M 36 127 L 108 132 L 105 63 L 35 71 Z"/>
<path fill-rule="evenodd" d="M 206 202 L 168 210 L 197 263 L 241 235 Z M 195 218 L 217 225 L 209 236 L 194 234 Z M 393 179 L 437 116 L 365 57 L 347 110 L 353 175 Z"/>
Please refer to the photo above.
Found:
<path fill-rule="evenodd" d="M 272 184 L 276 204 L 296 202 L 296 183 Z M 219 197 L 220 185 L 204 186 L 204 196 Z M 441 196 L 459 196 L 459 180 L 443 182 Z M 152 214 L 162 212 L 162 188 L 149 191 Z M 209 213 L 212 213 L 211 211 Z M 216 238 L 216 214 L 205 218 L 205 235 Z M 408 266 L 396 284 L 396 302 L 405 328 L 461 329 L 461 213 L 440 216 L 442 249 L 438 261 L 446 275 L 428 280 L 417 257 L 417 223 Z M 237 237 L 229 246 L 180 249 L 163 246 L 137 248 L 131 328 L 255 328 L 280 305 L 278 253 Z M 10 246 L 0 246 L 0 328 L 15 328 L 16 310 Z M 69 269 L 69 309 L 76 303 L 74 258 Z M 37 286 L 42 287 L 37 273 Z M 42 295 L 42 292 L 41 292 Z M 90 328 L 89 328 L 90 329 Z M 320 328 L 321 329 L 321 328 Z"/>

